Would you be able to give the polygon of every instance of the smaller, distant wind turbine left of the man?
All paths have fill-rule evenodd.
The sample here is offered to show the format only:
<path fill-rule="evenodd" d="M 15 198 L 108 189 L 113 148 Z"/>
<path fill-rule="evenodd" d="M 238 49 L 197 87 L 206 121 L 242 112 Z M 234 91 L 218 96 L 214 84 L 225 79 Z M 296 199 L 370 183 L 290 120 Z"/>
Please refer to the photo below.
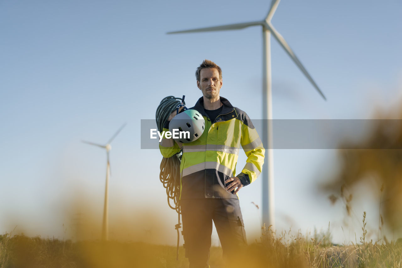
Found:
<path fill-rule="evenodd" d="M 88 143 L 90 145 L 95 145 L 101 148 L 106 149 L 107 155 L 107 166 L 106 166 L 106 186 L 105 186 L 105 203 L 103 205 L 103 221 L 102 221 L 102 240 L 106 241 L 108 239 L 108 192 L 109 192 L 109 177 L 110 177 L 110 162 L 109 162 L 109 151 L 112 149 L 110 143 L 115 139 L 115 137 L 120 133 L 120 131 L 125 127 L 126 123 L 124 123 L 118 131 L 116 131 L 115 135 L 113 135 L 109 141 L 105 145 L 93 143 L 90 141 L 82 141 L 84 143 Z"/>

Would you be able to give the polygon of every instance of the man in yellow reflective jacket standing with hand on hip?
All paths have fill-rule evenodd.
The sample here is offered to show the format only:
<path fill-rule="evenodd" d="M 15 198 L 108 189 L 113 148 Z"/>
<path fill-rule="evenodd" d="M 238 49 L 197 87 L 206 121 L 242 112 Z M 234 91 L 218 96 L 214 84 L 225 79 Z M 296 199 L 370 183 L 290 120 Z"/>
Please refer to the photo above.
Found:
<path fill-rule="evenodd" d="M 237 192 L 260 174 L 265 149 L 248 115 L 219 96 L 221 68 L 205 59 L 195 76 L 203 96 L 192 109 L 205 119 L 203 134 L 190 143 L 164 138 L 159 147 L 165 158 L 183 149 L 180 208 L 186 257 L 190 268 L 205 268 L 209 267 L 212 221 L 226 259 L 236 261 L 242 255 L 239 250 L 247 242 Z M 175 115 L 170 115 L 165 131 Z M 247 160 L 235 176 L 240 145 Z"/>

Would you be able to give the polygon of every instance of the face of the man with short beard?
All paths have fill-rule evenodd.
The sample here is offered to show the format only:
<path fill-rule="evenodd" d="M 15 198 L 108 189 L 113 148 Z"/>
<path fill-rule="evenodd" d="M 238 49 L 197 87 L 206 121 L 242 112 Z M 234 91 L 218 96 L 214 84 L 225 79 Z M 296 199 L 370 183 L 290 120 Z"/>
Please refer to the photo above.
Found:
<path fill-rule="evenodd" d="M 222 88 L 222 79 L 219 79 L 219 72 L 215 68 L 205 68 L 200 72 L 200 82 L 197 86 L 201 89 L 205 98 L 219 98 L 219 90 Z"/>

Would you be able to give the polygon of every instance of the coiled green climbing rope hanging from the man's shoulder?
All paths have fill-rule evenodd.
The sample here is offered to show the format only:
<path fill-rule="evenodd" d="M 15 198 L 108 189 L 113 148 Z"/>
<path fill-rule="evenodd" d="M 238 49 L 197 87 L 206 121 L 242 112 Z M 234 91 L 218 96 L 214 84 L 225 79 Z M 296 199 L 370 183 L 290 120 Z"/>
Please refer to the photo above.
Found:
<path fill-rule="evenodd" d="M 168 120 L 170 114 L 175 110 L 178 112 L 178 106 L 183 106 L 185 96 L 183 98 L 176 98 L 174 96 L 167 96 L 163 98 L 156 109 L 156 126 L 158 131 L 163 131 L 163 125 Z M 183 105 L 180 105 L 182 104 Z M 178 214 L 178 223 L 174 225 L 174 229 L 177 230 L 177 250 L 176 260 L 178 260 L 178 248 L 180 243 L 180 235 L 178 229 L 181 228 L 180 223 L 180 153 L 176 153 L 170 158 L 162 158 L 160 162 L 159 179 L 162 182 L 163 187 L 166 188 L 166 195 L 168 196 L 168 205 L 171 209 L 174 209 Z M 173 200 L 173 205 L 170 203 Z"/>

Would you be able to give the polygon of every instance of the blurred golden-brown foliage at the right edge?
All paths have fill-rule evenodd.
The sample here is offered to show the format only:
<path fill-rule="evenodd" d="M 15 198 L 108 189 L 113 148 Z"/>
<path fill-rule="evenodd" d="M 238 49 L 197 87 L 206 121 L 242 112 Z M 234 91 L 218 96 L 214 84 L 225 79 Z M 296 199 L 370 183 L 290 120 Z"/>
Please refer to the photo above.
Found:
<path fill-rule="evenodd" d="M 378 110 L 370 128 L 356 133 L 362 138 L 345 139 L 338 145 L 339 169 L 320 187 L 332 203 L 345 203 L 348 215 L 353 213 L 355 191 L 366 186 L 378 200 L 379 233 L 382 226 L 402 231 L 402 106 Z M 364 134 L 364 135 L 363 135 Z M 380 235 L 379 235 L 380 237 Z"/>

